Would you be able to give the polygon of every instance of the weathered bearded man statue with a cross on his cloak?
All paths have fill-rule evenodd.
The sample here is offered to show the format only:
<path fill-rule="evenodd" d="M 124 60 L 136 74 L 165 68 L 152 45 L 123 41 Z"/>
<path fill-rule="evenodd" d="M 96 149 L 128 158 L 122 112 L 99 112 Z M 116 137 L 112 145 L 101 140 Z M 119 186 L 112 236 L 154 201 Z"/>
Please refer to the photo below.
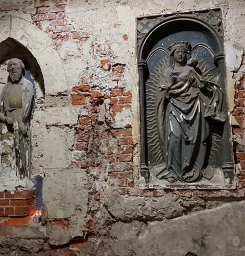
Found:
<path fill-rule="evenodd" d="M 30 117 L 33 109 L 34 87 L 24 78 L 25 69 L 22 60 L 9 60 L 7 71 L 8 82 L 0 95 L 0 133 L 1 140 L 6 140 L 2 133 L 3 124 L 7 126 L 9 136 L 14 137 L 14 151 L 20 176 L 28 175 L 30 158 Z M 2 155 L 5 154 L 5 146 Z"/>

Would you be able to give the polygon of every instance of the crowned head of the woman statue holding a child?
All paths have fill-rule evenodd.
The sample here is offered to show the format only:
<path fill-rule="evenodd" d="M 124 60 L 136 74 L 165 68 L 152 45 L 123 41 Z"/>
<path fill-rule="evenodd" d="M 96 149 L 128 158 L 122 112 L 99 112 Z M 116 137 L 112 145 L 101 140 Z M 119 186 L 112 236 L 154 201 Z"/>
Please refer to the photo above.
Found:
<path fill-rule="evenodd" d="M 169 66 L 174 66 L 175 62 L 185 66 L 186 62 L 190 59 L 191 45 L 187 41 L 174 42 L 168 47 Z"/>

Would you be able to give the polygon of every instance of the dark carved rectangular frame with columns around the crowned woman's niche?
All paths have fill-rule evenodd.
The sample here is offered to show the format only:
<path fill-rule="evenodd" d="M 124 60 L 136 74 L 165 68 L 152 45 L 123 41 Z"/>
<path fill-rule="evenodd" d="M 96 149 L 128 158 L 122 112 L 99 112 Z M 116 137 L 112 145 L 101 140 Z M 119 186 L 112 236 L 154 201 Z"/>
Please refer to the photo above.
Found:
<path fill-rule="evenodd" d="M 183 183 L 183 184 L 154 184 L 149 181 L 149 165 L 148 165 L 148 154 L 147 154 L 147 137 L 146 137 L 146 112 L 145 112 L 145 81 L 149 77 L 147 58 L 151 54 L 151 40 L 154 33 L 159 28 L 165 28 L 170 30 L 171 24 L 180 23 L 182 21 L 189 20 L 193 24 L 202 26 L 205 30 L 212 34 L 213 38 L 217 41 L 218 52 L 214 56 L 214 63 L 217 67 L 218 73 L 220 74 L 220 80 L 226 85 L 226 68 L 225 68 L 225 53 L 224 53 L 224 40 L 223 40 L 223 27 L 222 27 L 222 11 L 220 9 L 215 10 L 219 14 L 220 20 L 208 19 L 210 13 L 213 14 L 213 10 L 197 11 L 197 12 L 186 12 L 177 14 L 166 14 L 152 17 L 139 17 L 137 19 L 137 46 L 138 46 L 138 70 L 139 70 L 139 104 L 140 104 L 140 188 L 166 188 L 166 189 L 235 189 L 235 167 L 234 158 L 232 153 L 231 140 L 229 144 L 226 142 L 228 150 L 224 150 L 223 165 L 220 166 L 224 170 L 225 178 L 229 179 L 226 185 L 220 186 L 219 184 L 196 184 L 196 183 Z M 224 133 L 228 138 L 231 137 L 231 125 L 229 122 L 229 113 L 227 110 L 226 95 L 224 95 L 223 111 L 228 114 L 228 120 L 224 125 Z M 161 182 L 160 182 L 161 183 Z"/>

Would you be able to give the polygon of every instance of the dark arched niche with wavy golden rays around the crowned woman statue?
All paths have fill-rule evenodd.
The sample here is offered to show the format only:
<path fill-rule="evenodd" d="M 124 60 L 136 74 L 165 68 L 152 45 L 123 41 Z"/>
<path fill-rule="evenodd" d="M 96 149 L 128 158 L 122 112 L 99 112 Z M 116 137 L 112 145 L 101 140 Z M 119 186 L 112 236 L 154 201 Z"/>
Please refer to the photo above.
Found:
<path fill-rule="evenodd" d="M 138 18 L 140 174 L 141 180 L 145 182 L 141 183 L 142 188 L 233 189 L 236 186 L 232 145 L 230 142 L 231 127 L 227 107 L 222 26 L 222 12 L 218 9 Z M 204 88 L 201 89 L 202 86 L 200 86 L 197 90 L 200 90 L 198 94 L 203 94 L 206 97 L 206 101 L 200 98 L 200 104 L 203 104 L 204 109 L 214 107 L 217 110 L 220 108 L 220 113 L 222 113 L 218 115 L 217 112 L 219 110 L 217 110 L 215 115 L 212 113 L 214 115 L 212 118 L 203 115 L 200 120 L 202 120 L 202 125 L 203 123 L 207 124 L 208 132 L 205 135 L 203 135 L 205 132 L 200 132 L 201 135 L 199 135 L 198 132 L 193 131 L 192 134 L 197 134 L 196 137 L 195 135 L 192 136 L 192 134 L 188 135 L 189 130 L 197 129 L 199 131 L 202 129 L 202 125 L 192 127 L 192 124 L 187 124 L 187 121 L 185 122 L 176 118 L 179 132 L 177 132 L 178 129 L 175 130 L 175 127 L 170 127 L 174 123 L 170 120 L 170 115 L 174 113 L 170 104 L 175 104 L 171 102 L 174 101 L 182 104 L 185 100 L 183 98 L 186 97 L 183 96 L 184 94 L 189 94 L 192 97 L 193 94 L 189 91 L 192 90 L 190 89 L 191 86 L 188 86 L 185 92 L 182 91 L 183 93 L 180 93 L 178 97 L 169 95 L 171 93 L 170 85 L 167 89 L 163 89 L 160 86 L 162 85 L 160 81 L 165 79 L 165 71 L 167 69 L 170 72 L 168 81 L 171 81 L 170 77 L 175 77 L 176 81 L 173 82 L 172 86 L 177 84 L 181 73 L 176 72 L 177 69 L 173 68 L 173 66 L 172 68 L 169 66 L 169 55 L 171 53 L 174 54 L 175 50 L 171 52 L 171 49 L 176 49 L 175 46 L 178 45 L 174 45 L 174 43 L 180 41 L 187 41 L 188 45 L 191 45 L 191 48 L 188 48 L 189 54 L 198 60 L 198 65 L 194 67 L 194 72 L 197 71 L 198 74 L 195 74 L 202 76 L 199 76 L 199 80 L 195 80 L 193 87 L 194 84 L 198 83 L 197 81 L 202 80 Z M 170 45 L 172 47 L 169 47 Z M 187 63 L 183 67 L 187 67 Z M 173 81 L 173 78 L 171 79 Z M 179 90 L 182 90 L 182 88 L 184 87 L 180 87 Z M 165 96 L 162 105 L 159 103 L 160 100 L 156 99 L 160 97 L 158 91 L 160 93 L 164 91 L 163 95 Z M 211 100 L 214 98 L 212 95 L 218 95 L 216 103 Z M 188 104 L 184 104 L 183 108 L 188 108 Z M 162 109 L 159 110 L 159 108 Z M 177 110 L 177 107 L 174 108 L 174 110 Z M 157 113 L 161 114 L 158 115 Z M 194 115 L 196 113 L 200 113 L 200 111 L 195 112 Z M 228 117 L 226 118 L 227 115 Z M 173 116 L 175 118 L 176 114 L 174 113 L 172 118 Z M 183 118 L 182 113 L 180 116 Z M 169 123 L 171 123 L 169 124 L 169 130 L 166 128 L 168 125 L 166 118 L 169 118 Z M 187 116 L 184 116 L 185 118 Z M 161 125 L 159 125 L 160 119 L 164 120 Z M 190 123 L 194 122 L 193 120 L 195 119 L 192 119 Z M 165 134 L 169 136 L 165 138 Z M 171 135 L 174 137 L 171 137 Z M 205 152 L 201 152 L 202 147 L 195 144 L 195 141 L 200 136 L 205 138 L 203 140 L 200 139 L 202 143 L 199 143 L 200 145 L 205 144 Z M 178 143 L 173 144 L 171 142 L 173 139 L 176 139 Z M 185 141 L 183 141 L 184 139 Z M 182 146 L 183 144 L 188 145 L 188 143 L 193 143 L 192 150 L 189 150 L 188 146 L 185 150 L 185 146 Z M 200 152 L 195 153 L 195 151 L 199 150 Z M 175 153 L 176 151 L 180 151 L 181 153 L 178 153 L 178 155 Z M 201 156 L 199 154 L 205 155 Z M 176 160 L 177 157 L 180 160 Z M 199 158 L 203 159 L 202 163 L 198 162 L 197 159 Z M 177 172 L 175 167 L 173 167 L 175 164 L 179 168 Z M 191 164 L 192 167 L 190 167 Z M 199 164 L 202 164 L 202 167 Z M 186 165 L 188 165 L 187 168 Z M 185 168 L 189 169 L 189 173 Z M 167 178 L 170 176 L 167 176 L 168 173 L 171 172 L 174 174 L 173 176 L 179 172 L 176 179 L 172 179 L 172 177 Z M 210 172 L 210 175 L 207 175 L 208 178 L 205 179 L 207 172 Z M 184 177 L 185 173 L 187 175 Z M 188 175 L 190 176 L 190 173 L 193 174 L 193 177 L 195 176 L 192 180 L 189 177 L 186 178 Z"/>

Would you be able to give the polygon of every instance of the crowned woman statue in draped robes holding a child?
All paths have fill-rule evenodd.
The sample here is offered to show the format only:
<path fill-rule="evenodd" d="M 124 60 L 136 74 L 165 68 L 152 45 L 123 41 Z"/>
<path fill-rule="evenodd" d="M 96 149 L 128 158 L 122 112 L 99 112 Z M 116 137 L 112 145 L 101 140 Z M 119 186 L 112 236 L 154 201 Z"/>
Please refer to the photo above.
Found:
<path fill-rule="evenodd" d="M 169 65 L 156 91 L 156 118 L 163 164 L 154 167 L 159 179 L 169 182 L 195 182 L 211 179 L 213 170 L 206 166 L 208 118 L 224 121 L 219 112 L 219 95 L 208 99 L 205 91 L 214 92 L 191 58 L 187 41 L 168 47 Z M 219 92 L 220 93 L 220 92 Z M 212 104 L 210 104 L 212 102 Z"/>

